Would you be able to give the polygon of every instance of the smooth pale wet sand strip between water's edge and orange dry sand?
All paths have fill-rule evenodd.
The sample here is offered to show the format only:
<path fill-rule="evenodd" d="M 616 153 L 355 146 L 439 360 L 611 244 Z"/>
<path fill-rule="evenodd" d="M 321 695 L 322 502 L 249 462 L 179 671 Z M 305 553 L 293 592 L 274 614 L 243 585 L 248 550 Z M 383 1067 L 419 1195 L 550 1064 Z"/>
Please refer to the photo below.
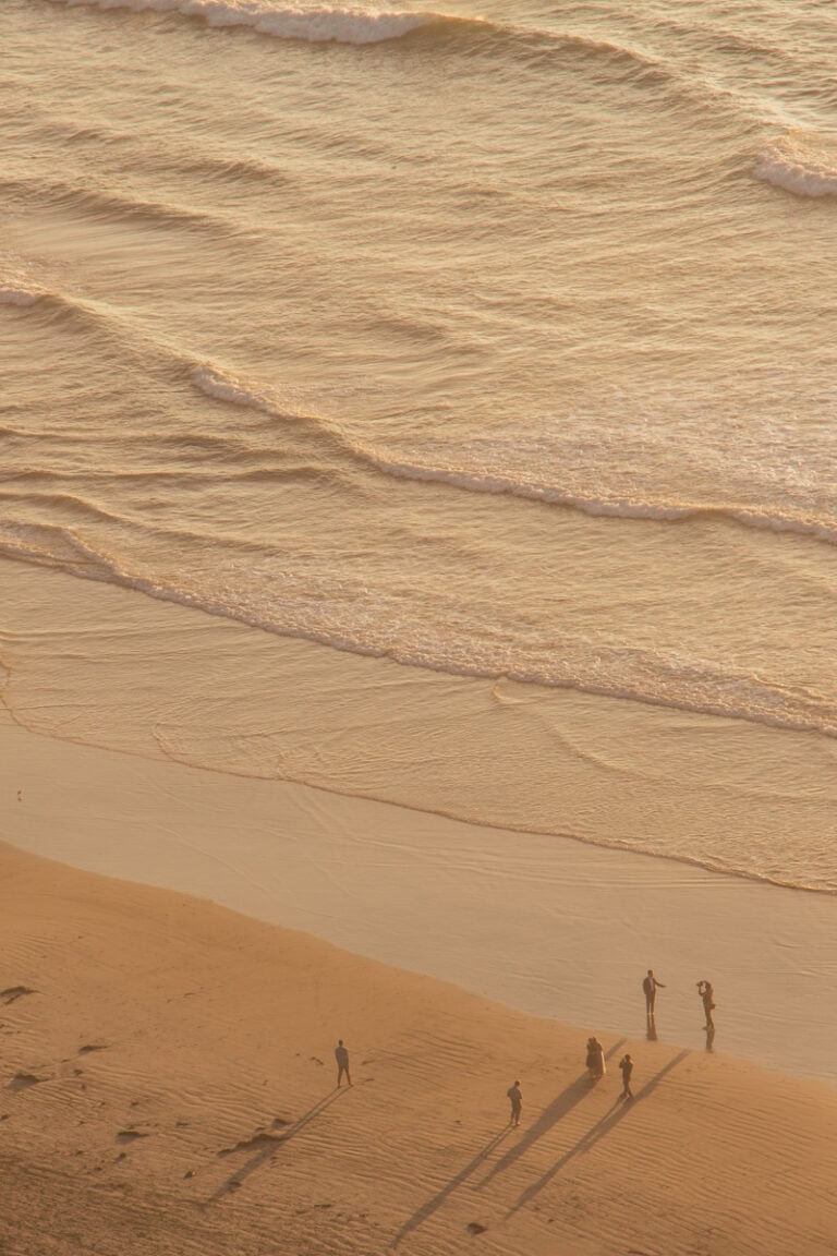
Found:
<path fill-rule="evenodd" d="M 708 977 L 715 1051 L 837 1081 L 829 896 L 63 742 L 9 716 L 0 760 L 3 838 L 21 850 L 301 929 L 585 1037 L 644 1032 L 654 967 L 660 1040 L 700 1049 Z"/>

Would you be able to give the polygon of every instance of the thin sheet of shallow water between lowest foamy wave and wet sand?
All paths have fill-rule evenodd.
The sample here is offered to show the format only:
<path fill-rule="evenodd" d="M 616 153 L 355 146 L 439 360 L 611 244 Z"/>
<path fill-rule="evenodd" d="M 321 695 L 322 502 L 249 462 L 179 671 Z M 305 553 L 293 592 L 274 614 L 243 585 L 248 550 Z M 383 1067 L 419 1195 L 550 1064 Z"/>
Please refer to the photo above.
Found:
<path fill-rule="evenodd" d="M 494 683 L 0 559 L 3 703 L 58 740 L 837 889 L 837 744 Z"/>

